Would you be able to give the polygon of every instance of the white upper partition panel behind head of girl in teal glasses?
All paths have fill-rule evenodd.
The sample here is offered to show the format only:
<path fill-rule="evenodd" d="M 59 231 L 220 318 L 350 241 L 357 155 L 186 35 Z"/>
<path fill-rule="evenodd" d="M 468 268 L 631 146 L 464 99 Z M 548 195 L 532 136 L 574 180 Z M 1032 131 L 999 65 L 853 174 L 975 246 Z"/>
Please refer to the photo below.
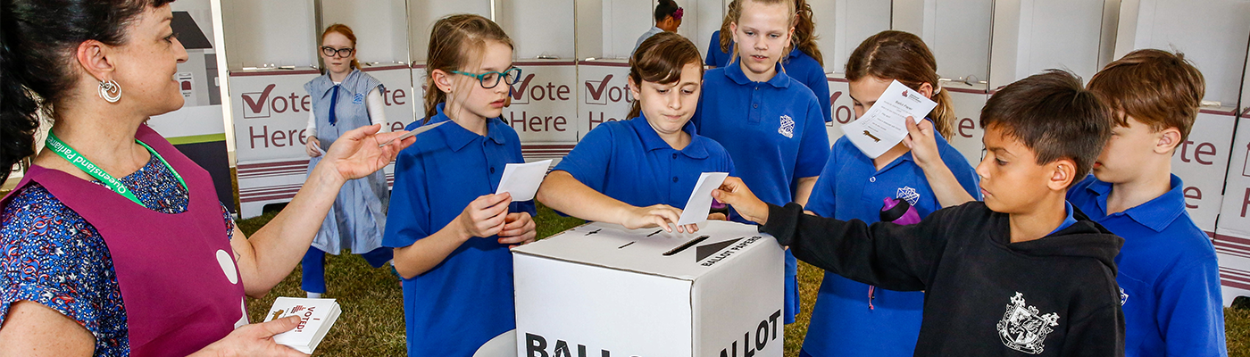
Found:
<path fill-rule="evenodd" d="M 429 57 L 430 30 L 434 22 L 451 14 L 478 14 L 491 17 L 490 0 L 409 0 L 408 34 L 411 61 L 424 62 Z M 509 32 L 511 35 L 511 32 Z"/>

